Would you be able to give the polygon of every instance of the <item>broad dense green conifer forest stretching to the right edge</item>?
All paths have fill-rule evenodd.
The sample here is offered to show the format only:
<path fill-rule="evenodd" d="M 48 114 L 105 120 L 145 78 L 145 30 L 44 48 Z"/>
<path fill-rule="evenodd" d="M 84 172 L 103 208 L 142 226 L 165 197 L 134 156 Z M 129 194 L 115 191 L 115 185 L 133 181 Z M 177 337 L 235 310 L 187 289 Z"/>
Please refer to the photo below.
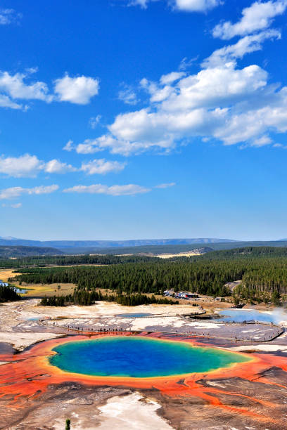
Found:
<path fill-rule="evenodd" d="M 229 289 L 224 285 L 242 279 L 245 289 L 278 291 L 287 294 L 287 257 L 261 254 L 237 259 L 174 261 L 151 260 L 118 263 L 109 266 L 73 266 L 21 269 L 21 275 L 11 278 L 27 284 L 73 283 L 79 289 L 111 289 L 117 294 L 162 294 L 165 289 L 181 289 L 224 297 Z"/>

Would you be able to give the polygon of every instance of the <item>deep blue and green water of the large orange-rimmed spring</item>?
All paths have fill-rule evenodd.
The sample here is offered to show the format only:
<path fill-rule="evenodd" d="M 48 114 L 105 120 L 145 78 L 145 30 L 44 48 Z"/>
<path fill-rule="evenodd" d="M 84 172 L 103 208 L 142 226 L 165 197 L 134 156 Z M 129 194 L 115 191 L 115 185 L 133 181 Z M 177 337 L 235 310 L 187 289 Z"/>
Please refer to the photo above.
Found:
<path fill-rule="evenodd" d="M 96 376 L 158 377 L 207 372 L 248 358 L 216 348 L 142 337 L 103 337 L 53 348 L 52 365 Z"/>

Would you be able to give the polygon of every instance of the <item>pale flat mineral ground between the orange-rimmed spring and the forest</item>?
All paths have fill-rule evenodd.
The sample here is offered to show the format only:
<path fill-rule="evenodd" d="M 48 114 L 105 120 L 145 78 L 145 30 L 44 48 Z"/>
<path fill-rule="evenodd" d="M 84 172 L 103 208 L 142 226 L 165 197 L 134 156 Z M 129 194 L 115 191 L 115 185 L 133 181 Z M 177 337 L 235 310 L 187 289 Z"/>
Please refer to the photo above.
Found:
<path fill-rule="evenodd" d="M 217 339 L 260 342 L 273 337 L 276 327 L 253 324 L 224 324 L 217 320 L 192 320 L 180 318 L 194 308 L 189 305 L 120 306 L 98 302 L 94 306 L 50 307 L 39 306 L 38 299 L 27 299 L 0 306 L 0 342 L 8 342 L 23 350 L 37 341 L 65 334 L 75 334 L 75 327 L 83 331 L 127 330 L 158 331 L 167 333 L 196 334 Z M 144 318 L 124 318 L 123 313 L 150 313 Z M 154 316 L 153 316 L 154 315 Z M 39 319 L 46 318 L 44 321 Z M 279 344 L 287 338 L 279 337 Z"/>

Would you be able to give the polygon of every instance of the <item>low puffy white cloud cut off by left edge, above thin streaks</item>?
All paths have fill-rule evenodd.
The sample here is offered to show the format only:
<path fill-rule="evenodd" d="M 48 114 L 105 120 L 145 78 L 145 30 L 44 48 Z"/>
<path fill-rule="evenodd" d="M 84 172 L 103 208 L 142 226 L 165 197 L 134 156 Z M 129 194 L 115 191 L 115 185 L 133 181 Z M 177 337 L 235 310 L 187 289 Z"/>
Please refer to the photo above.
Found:
<path fill-rule="evenodd" d="M 0 157 L 0 173 L 15 178 L 37 176 L 44 169 L 44 163 L 36 155 L 21 155 L 20 157 Z"/>

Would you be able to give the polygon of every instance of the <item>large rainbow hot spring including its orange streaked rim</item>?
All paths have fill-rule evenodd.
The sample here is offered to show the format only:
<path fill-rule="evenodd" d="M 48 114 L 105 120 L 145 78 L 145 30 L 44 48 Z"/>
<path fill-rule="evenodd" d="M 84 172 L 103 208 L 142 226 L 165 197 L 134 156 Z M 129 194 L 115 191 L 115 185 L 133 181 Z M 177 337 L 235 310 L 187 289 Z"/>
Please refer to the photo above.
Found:
<path fill-rule="evenodd" d="M 182 405 L 181 421 L 184 410 L 192 406 L 195 414 L 196 408 L 210 417 L 222 411 L 229 419 L 256 423 L 256 429 L 283 428 L 272 410 L 278 412 L 276 398 L 286 392 L 286 359 L 255 351 L 231 352 L 212 346 L 211 339 L 210 344 L 201 341 L 148 332 L 51 339 L 0 357 L 8 362 L 1 365 L 0 396 L 7 410 L 21 414 L 28 406 L 41 404 L 51 387 L 70 390 L 71 383 L 81 390 L 121 387 L 160 398 L 163 410 L 168 404 L 167 417 L 170 401 L 177 399 L 172 404 Z M 268 373 L 275 366 L 282 372 L 279 377 Z"/>

